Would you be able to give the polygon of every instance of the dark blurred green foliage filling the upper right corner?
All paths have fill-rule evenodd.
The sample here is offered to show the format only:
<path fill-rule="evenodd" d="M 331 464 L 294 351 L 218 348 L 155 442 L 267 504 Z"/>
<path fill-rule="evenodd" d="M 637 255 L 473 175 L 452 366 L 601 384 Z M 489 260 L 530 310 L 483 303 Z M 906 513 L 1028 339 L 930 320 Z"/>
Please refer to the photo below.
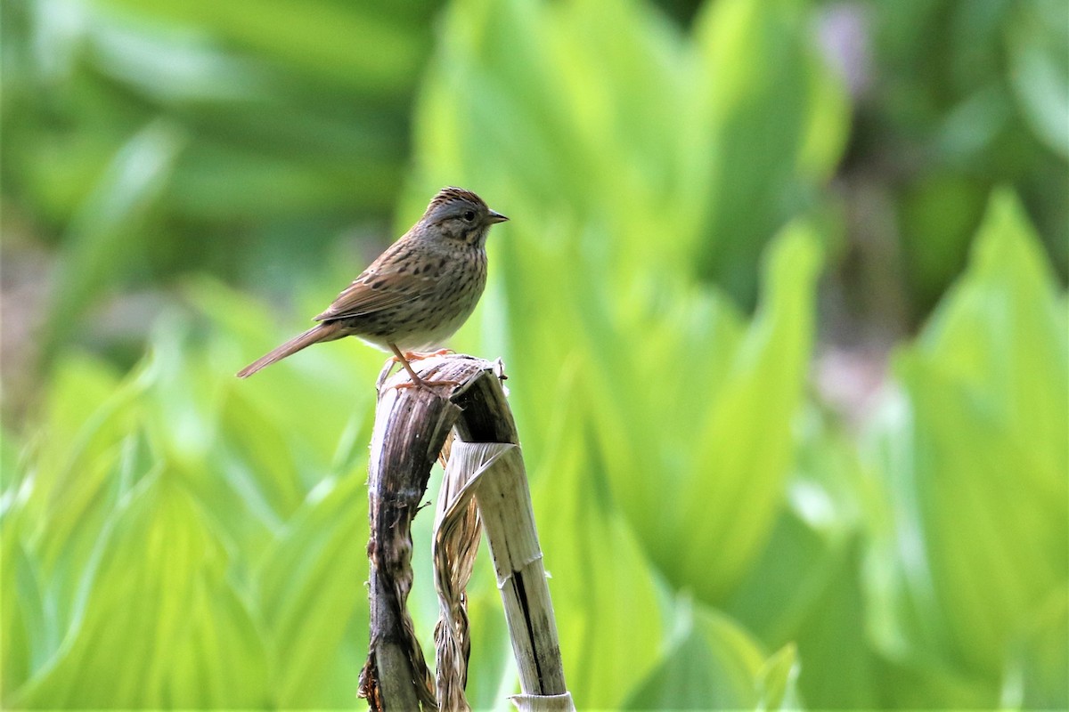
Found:
<path fill-rule="evenodd" d="M 864 3 L 873 73 L 848 165 L 897 204 L 904 291 L 924 317 L 1012 184 L 1069 271 L 1069 21 L 1060 0 Z"/>

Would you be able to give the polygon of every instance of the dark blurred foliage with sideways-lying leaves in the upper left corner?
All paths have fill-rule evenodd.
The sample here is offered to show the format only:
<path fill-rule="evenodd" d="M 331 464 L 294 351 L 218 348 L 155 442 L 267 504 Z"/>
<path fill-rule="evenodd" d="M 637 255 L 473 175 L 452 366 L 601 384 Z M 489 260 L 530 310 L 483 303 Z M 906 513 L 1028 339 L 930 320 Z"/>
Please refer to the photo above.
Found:
<path fill-rule="evenodd" d="M 5 207 L 64 252 L 46 355 L 119 288 L 263 283 L 381 225 L 436 4 L 6 2 Z"/>

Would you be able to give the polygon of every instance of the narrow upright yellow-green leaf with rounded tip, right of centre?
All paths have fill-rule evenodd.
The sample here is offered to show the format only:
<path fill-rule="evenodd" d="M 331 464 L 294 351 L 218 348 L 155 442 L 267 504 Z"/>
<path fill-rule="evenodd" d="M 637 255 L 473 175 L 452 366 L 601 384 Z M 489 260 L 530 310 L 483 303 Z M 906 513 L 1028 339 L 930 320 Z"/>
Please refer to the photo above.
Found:
<path fill-rule="evenodd" d="M 698 434 L 695 489 L 681 492 L 680 500 L 681 522 L 694 528 L 681 527 L 677 537 L 697 544 L 683 549 L 681 573 L 710 600 L 723 596 L 752 563 L 783 501 L 793 450 L 791 421 L 811 348 L 818 246 L 802 225 L 786 230 L 773 246 L 766 297 Z M 710 481 L 699 485 L 702 478 Z M 701 507 L 699 493 L 714 510 Z"/>

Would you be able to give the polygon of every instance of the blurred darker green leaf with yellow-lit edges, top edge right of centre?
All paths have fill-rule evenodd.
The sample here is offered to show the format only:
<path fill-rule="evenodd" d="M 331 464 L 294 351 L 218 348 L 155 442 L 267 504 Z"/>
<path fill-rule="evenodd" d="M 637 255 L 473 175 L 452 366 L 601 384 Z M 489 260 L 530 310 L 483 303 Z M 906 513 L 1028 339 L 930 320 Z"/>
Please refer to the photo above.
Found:
<path fill-rule="evenodd" d="M 696 20 L 712 137 L 699 269 L 744 306 L 757 300 L 765 244 L 815 205 L 848 132 L 843 89 L 804 30 L 807 7 L 724 0 Z"/>

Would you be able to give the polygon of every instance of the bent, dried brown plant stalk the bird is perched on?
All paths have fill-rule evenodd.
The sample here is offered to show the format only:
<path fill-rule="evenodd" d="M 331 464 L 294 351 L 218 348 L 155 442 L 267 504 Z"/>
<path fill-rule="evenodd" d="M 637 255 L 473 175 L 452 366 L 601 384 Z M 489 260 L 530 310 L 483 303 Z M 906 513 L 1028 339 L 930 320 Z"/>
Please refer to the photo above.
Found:
<path fill-rule="evenodd" d="M 470 645 L 464 587 L 478 547 L 481 516 L 520 668 L 524 694 L 514 701 L 522 709 L 573 709 L 564 686 L 523 458 L 500 384 L 500 363 L 458 354 L 421 361 L 417 371 L 432 383 L 443 380 L 458 385 L 434 392 L 397 389 L 407 380 L 399 374 L 382 391 L 368 479 L 372 624 L 360 694 L 374 710 L 416 710 L 420 705 L 432 709 L 437 700 L 444 709 L 468 709 L 463 693 Z M 412 518 L 450 429 L 454 436 L 451 452 L 443 454 L 449 460 L 447 472 L 463 474 L 444 486 L 436 518 L 435 583 L 443 591 L 441 619 L 435 631 L 436 700 L 405 602 L 412 588 Z"/>

